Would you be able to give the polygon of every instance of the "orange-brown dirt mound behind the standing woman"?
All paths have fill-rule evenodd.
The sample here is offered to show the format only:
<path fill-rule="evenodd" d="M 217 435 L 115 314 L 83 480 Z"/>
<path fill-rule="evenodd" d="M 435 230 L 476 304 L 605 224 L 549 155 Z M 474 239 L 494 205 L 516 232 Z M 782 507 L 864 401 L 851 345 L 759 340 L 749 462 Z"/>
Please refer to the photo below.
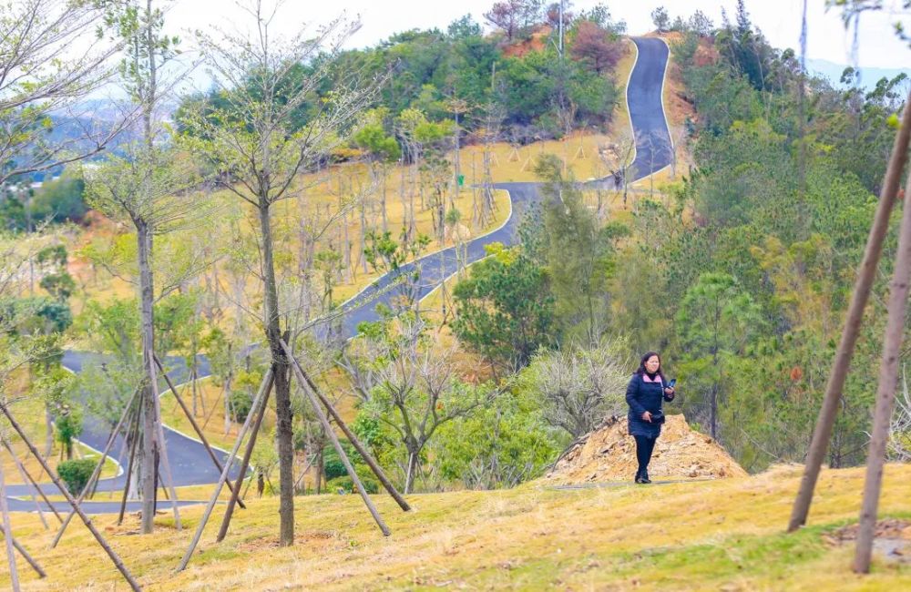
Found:
<path fill-rule="evenodd" d="M 545 479 L 562 484 L 631 481 L 636 467 L 636 441 L 627 418 L 613 417 L 573 444 Z M 746 471 L 711 437 L 691 430 L 683 415 L 668 415 L 651 455 L 649 476 L 705 479 L 746 476 Z"/>

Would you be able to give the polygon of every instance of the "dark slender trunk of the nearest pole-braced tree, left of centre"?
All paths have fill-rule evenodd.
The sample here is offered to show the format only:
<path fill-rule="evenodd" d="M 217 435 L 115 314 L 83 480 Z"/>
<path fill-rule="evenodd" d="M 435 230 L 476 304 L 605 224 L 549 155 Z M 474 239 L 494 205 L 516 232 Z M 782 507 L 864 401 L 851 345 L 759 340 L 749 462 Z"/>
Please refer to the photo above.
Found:
<path fill-rule="evenodd" d="M 278 286 L 271 234 L 269 203 L 260 200 L 260 232 L 262 237 L 262 280 L 265 291 L 266 339 L 271 352 L 272 373 L 275 377 L 275 439 L 279 449 L 279 544 L 294 543 L 294 447 L 292 442 L 291 382 L 289 363 L 281 348 Z"/>

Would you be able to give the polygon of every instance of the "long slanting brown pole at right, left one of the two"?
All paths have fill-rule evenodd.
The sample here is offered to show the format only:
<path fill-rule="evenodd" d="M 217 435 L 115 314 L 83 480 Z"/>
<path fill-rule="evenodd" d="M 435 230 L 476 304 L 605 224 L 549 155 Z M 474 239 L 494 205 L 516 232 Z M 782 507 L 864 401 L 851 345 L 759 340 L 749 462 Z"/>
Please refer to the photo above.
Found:
<path fill-rule="evenodd" d="M 876 206 L 873 226 L 870 228 L 870 235 L 866 240 L 864 260 L 861 262 L 860 269 L 857 272 L 855 290 L 851 297 L 851 304 L 848 306 L 842 338 L 838 342 L 838 350 L 835 352 L 832 362 L 829 381 L 825 384 L 823 404 L 819 410 L 819 417 L 816 419 L 813 440 L 810 442 L 810 448 L 806 454 L 804 476 L 801 479 L 800 490 L 794 500 L 791 520 L 788 523 L 788 532 L 793 532 L 804 526 L 806 524 L 806 516 L 810 513 L 813 492 L 816 488 L 816 481 L 819 478 L 819 471 L 823 465 L 823 457 L 829 445 L 829 440 L 832 438 L 835 413 L 838 413 L 838 402 L 842 397 L 844 380 L 851 365 L 857 336 L 860 333 L 860 325 L 864 319 L 864 309 L 866 308 L 866 302 L 870 298 L 870 290 L 875 280 L 876 268 L 883 252 L 883 242 L 888 232 L 889 217 L 896 203 L 902 169 L 905 168 L 908 157 L 909 138 L 911 138 L 911 93 L 908 95 L 901 127 L 898 128 L 896 133 L 892 156 L 889 158 L 889 166 L 885 171 L 883 189 L 880 191 L 879 204 Z"/>

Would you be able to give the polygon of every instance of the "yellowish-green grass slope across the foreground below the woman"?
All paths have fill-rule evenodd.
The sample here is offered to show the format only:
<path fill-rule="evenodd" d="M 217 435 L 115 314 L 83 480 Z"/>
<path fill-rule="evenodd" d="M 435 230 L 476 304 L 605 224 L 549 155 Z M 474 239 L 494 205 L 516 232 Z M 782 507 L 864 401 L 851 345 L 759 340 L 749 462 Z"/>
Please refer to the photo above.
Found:
<path fill-rule="evenodd" d="M 876 559 L 874 572 L 850 571 L 853 547 L 824 534 L 855 521 L 863 470 L 824 471 L 810 524 L 783 534 L 800 470 L 783 467 L 743 479 L 600 489 L 510 491 L 411 497 L 404 514 L 375 496 L 393 530 L 384 538 L 353 495 L 296 499 L 296 545 L 276 545 L 277 500 L 251 500 L 224 543 L 207 527 L 189 568 L 174 567 L 199 523 L 187 508 L 185 530 L 167 515 L 152 536 L 133 523 L 97 525 L 144 587 L 202 589 L 902 589 L 911 566 Z M 911 466 L 889 465 L 881 515 L 911 517 Z M 27 589 L 120 589 L 118 573 L 84 527 L 53 551 L 53 536 L 31 515 L 14 515 L 15 534 L 46 567 L 37 580 L 20 565 Z M 4 568 L 5 569 L 5 568 Z M 0 586 L 8 576 L 0 573 Z"/>

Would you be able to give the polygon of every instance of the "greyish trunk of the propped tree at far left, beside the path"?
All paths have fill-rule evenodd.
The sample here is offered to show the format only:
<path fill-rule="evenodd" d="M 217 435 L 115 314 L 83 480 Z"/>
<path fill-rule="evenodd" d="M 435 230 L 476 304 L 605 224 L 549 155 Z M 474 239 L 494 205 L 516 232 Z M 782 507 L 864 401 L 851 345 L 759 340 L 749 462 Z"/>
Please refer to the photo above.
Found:
<path fill-rule="evenodd" d="M 141 219 L 136 222 L 139 260 L 139 313 L 141 319 L 142 339 L 142 374 L 143 387 L 141 396 L 142 409 L 142 445 L 138 448 L 139 495 L 142 499 L 143 534 L 151 533 L 155 519 L 155 449 L 156 449 L 156 414 L 155 392 L 152 388 L 154 377 L 151 374 L 152 355 L 154 352 L 154 329 L 152 325 L 152 233 L 148 224 Z"/>

